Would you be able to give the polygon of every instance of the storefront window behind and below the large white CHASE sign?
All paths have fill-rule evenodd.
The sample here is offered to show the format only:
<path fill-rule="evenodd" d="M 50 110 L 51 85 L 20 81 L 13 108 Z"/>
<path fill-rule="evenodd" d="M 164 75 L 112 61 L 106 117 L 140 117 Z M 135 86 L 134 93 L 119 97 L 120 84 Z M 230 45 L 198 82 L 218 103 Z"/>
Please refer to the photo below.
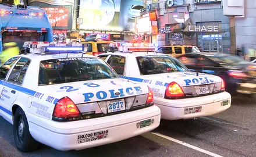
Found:
<path fill-rule="evenodd" d="M 205 22 L 205 23 L 197 23 L 197 26 L 209 26 L 214 25 L 221 29 L 221 22 Z M 222 34 L 213 33 L 213 32 L 205 32 L 205 33 L 197 33 L 198 37 L 198 48 L 201 52 L 219 52 L 222 53 Z"/>

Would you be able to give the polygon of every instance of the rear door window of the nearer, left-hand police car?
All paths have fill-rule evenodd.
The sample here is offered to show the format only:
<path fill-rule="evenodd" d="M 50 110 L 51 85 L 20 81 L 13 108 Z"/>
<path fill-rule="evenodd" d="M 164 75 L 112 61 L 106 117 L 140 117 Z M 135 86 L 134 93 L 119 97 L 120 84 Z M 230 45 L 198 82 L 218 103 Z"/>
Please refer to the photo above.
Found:
<path fill-rule="evenodd" d="M 29 63 L 30 63 L 30 59 L 21 58 L 19 62 L 17 62 L 15 67 L 13 67 L 13 70 L 10 73 L 8 81 L 11 81 L 17 84 L 22 84 L 23 78 L 25 76 Z"/>

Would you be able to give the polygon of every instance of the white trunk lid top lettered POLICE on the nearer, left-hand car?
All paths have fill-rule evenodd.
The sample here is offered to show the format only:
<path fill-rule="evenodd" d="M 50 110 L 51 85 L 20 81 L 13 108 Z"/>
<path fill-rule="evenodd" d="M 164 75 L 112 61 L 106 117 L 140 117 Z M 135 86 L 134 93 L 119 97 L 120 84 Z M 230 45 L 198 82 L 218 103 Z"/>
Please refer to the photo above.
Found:
<path fill-rule="evenodd" d="M 69 97 L 75 104 L 148 94 L 147 85 L 126 79 L 78 81 L 66 84 L 44 85 L 42 87 L 45 88 L 45 91 L 48 89 L 49 95 L 54 98 Z"/>

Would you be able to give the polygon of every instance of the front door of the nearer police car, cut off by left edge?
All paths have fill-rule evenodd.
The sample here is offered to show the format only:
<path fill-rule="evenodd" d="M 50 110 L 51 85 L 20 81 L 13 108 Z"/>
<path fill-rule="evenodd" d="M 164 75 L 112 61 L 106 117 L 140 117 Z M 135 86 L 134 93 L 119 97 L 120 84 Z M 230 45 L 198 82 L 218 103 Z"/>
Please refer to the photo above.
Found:
<path fill-rule="evenodd" d="M 15 98 L 16 96 L 11 94 L 9 84 L 6 84 L 6 79 L 19 59 L 20 57 L 10 58 L 0 67 L 0 115 L 3 117 L 12 116 L 12 112 L 10 112 L 11 104 L 9 104 L 9 102 L 10 99 Z"/>

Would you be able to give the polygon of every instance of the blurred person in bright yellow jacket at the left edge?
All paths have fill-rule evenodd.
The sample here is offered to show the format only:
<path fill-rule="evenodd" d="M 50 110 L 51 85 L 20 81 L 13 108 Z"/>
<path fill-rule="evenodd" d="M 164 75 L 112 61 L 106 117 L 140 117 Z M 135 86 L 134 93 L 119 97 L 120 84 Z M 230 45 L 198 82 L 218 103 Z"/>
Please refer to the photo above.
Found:
<path fill-rule="evenodd" d="M 16 42 L 7 42 L 3 44 L 4 51 L 0 54 L 1 63 L 5 63 L 8 59 L 13 56 L 19 55 L 20 49 Z"/>

